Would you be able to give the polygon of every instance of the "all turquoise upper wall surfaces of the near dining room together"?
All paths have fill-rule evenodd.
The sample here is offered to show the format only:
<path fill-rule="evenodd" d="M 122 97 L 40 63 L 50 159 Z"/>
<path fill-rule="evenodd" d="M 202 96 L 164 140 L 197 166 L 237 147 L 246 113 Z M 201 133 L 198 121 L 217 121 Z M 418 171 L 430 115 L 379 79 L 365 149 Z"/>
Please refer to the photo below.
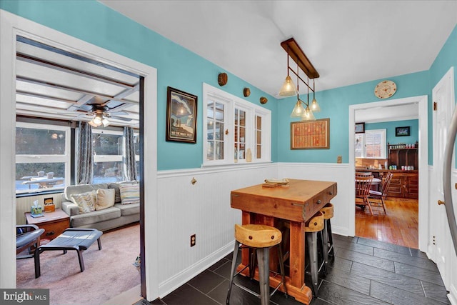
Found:
<path fill-rule="evenodd" d="M 2 0 L 0 8 L 154 66 L 158 71 L 158 169 L 191 169 L 201 166 L 203 158 L 202 83 L 219 86 L 217 76 L 224 71 L 223 69 L 96 1 Z M 456 54 L 457 27 L 453 29 L 430 70 L 384 78 L 391 79 L 397 84 L 398 91 L 390 99 L 428 95 L 428 164 L 432 164 L 433 160 L 431 89 L 451 66 L 457 66 Z M 265 106 L 272 111 L 271 156 L 273 161 L 281 162 L 335 163 L 336 157 L 341 155 L 343 163 L 348 163 L 348 107 L 352 104 L 379 101 L 380 99 L 374 96 L 373 89 L 379 81 L 383 80 L 376 79 L 316 92 L 316 99 L 322 109 L 320 113 L 316 114 L 316 118 L 330 118 L 330 149 L 292 151 L 290 149 L 292 121 L 290 114 L 296 99 L 276 100 L 246 81 L 225 72 L 229 74 L 229 83 L 222 88 L 224 91 L 243 98 L 243 88 L 248 86 L 251 88 L 251 96 L 243 99 L 253 104 L 260 104 L 258 101 L 260 96 L 268 98 Z M 457 74 L 457 70 L 454 70 L 454 73 Z M 457 76 L 455 80 L 457 87 Z M 165 141 L 167 86 L 199 96 L 197 144 Z M 318 80 L 316 89 L 318 90 Z M 306 96 L 301 97 L 303 100 L 306 99 Z"/>

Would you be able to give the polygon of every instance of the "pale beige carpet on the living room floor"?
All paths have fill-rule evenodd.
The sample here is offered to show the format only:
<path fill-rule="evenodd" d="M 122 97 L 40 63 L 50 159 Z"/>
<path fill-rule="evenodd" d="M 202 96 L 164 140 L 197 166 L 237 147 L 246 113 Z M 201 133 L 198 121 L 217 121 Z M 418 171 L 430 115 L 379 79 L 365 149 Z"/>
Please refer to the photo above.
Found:
<path fill-rule="evenodd" d="M 34 259 L 17 260 L 18 288 L 50 289 L 51 305 L 96 305 L 140 284 L 133 265 L 139 255 L 139 224 L 109 231 L 83 252 L 84 272 L 76 251 L 44 251 L 41 276 L 35 279 Z"/>

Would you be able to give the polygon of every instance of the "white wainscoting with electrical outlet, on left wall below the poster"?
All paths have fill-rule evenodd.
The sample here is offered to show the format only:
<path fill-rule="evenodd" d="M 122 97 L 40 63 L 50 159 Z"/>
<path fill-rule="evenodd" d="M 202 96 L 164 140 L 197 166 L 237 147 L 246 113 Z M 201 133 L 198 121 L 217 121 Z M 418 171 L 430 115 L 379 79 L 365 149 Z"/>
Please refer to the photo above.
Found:
<path fill-rule="evenodd" d="M 276 176 L 276 164 L 159 171 L 159 296 L 233 251 L 233 224 L 241 224 L 241 211 L 231 209 L 230 192 Z"/>

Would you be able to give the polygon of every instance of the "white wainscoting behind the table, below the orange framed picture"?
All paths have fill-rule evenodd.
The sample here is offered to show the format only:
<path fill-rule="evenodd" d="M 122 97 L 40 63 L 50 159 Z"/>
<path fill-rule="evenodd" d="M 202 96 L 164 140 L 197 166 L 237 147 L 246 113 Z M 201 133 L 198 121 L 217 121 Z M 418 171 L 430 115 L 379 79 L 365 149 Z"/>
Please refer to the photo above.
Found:
<path fill-rule="evenodd" d="M 334 215 L 331 219 L 333 234 L 351 236 L 355 226 L 353 201 L 349 199 L 349 190 L 354 189 L 353 173 L 348 164 L 321 163 L 279 163 L 278 177 L 320 181 L 335 181 L 338 194 L 331 200 Z M 351 223 L 352 222 L 352 223 Z"/>

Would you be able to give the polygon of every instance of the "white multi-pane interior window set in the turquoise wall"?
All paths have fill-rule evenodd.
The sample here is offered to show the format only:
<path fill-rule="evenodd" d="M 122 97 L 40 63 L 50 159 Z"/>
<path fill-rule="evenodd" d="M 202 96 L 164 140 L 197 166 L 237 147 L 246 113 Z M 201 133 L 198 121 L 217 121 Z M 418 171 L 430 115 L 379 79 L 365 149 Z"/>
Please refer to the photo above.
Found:
<path fill-rule="evenodd" d="M 271 111 L 204 84 L 204 165 L 271 161 Z"/>

